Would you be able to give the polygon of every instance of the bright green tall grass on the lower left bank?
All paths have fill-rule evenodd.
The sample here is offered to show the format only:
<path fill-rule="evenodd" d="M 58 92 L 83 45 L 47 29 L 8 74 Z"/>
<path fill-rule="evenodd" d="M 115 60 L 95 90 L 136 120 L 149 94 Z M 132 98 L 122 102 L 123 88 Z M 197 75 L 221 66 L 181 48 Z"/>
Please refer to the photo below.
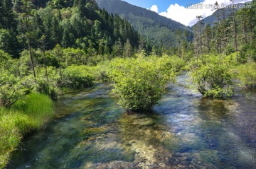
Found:
<path fill-rule="evenodd" d="M 0 168 L 7 165 L 21 140 L 41 129 L 50 117 L 53 117 L 53 101 L 43 94 L 27 95 L 10 110 L 0 107 Z"/>

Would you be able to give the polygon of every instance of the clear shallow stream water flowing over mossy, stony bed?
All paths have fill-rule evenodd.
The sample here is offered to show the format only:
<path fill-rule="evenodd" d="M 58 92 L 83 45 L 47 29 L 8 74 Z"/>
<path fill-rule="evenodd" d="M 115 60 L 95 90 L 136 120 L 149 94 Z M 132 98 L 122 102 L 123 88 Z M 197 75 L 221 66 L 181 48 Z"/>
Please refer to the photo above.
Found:
<path fill-rule="evenodd" d="M 149 114 L 126 115 L 107 84 L 61 96 L 8 168 L 256 168 L 256 94 L 205 99 L 186 78 Z"/>

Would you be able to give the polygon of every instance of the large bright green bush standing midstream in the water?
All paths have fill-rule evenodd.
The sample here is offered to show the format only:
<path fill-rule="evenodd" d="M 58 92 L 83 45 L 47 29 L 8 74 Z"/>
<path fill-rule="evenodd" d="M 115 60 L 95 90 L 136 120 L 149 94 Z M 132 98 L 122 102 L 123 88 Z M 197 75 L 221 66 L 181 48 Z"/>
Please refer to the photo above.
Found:
<path fill-rule="evenodd" d="M 137 59 L 114 59 L 110 67 L 112 93 L 127 112 L 151 110 L 174 76 L 169 64 L 143 54 L 138 54 Z"/>

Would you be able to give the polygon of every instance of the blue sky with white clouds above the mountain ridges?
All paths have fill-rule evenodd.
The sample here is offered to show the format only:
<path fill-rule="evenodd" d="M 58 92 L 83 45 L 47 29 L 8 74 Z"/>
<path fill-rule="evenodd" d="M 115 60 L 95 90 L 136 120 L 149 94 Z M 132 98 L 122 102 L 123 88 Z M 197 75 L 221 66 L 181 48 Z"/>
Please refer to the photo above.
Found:
<path fill-rule="evenodd" d="M 166 18 L 171 18 L 174 21 L 178 21 L 183 25 L 192 26 L 196 23 L 196 16 L 203 16 L 206 18 L 213 14 L 214 10 L 212 8 L 206 8 L 207 5 L 215 4 L 231 4 L 230 0 L 123 0 L 127 1 L 129 4 L 140 6 L 142 8 L 147 8 L 151 11 L 159 13 L 161 16 Z M 240 2 L 251 1 L 251 0 L 235 0 L 235 4 Z M 186 8 L 191 4 L 203 3 L 203 7 L 195 6 L 198 9 Z"/>

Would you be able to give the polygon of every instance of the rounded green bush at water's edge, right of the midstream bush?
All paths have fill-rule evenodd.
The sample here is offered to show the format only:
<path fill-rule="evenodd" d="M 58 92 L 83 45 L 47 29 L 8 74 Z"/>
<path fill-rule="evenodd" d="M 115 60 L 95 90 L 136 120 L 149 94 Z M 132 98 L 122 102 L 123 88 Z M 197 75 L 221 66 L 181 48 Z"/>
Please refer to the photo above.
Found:
<path fill-rule="evenodd" d="M 191 78 L 198 91 L 206 97 L 223 98 L 233 95 L 230 57 L 206 55 L 192 70 Z"/>

